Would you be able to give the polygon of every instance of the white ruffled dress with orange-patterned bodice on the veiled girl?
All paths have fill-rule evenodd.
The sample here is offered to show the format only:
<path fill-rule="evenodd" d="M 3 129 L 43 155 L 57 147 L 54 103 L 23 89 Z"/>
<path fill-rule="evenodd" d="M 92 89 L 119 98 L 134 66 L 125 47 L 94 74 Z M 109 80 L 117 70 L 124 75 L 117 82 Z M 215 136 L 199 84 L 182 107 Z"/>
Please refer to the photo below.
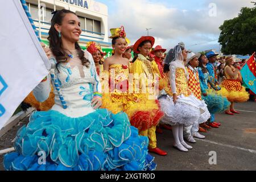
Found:
<path fill-rule="evenodd" d="M 172 61 L 170 64 L 170 84 L 159 97 L 159 103 L 164 117 L 161 122 L 168 125 L 193 125 L 206 122 L 210 113 L 204 101 L 198 100 L 188 89 L 188 73 L 181 60 Z M 174 104 L 172 94 L 177 94 Z"/>

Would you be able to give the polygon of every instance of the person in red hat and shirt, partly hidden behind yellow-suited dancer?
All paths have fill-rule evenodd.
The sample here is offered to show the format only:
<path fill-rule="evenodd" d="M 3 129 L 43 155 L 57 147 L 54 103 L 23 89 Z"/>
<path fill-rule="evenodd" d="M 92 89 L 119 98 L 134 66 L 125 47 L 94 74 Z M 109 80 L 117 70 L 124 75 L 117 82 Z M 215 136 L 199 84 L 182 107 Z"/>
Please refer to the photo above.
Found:
<path fill-rule="evenodd" d="M 154 55 L 154 60 L 151 62 L 152 67 L 154 69 L 155 73 L 158 73 L 159 75 L 159 91 L 164 89 L 165 86 L 167 86 L 167 79 L 163 71 L 163 59 L 164 59 L 164 52 L 166 52 L 166 49 L 163 49 L 162 46 L 156 46 L 153 51 L 151 51 L 151 54 Z M 168 125 L 161 125 L 159 124 L 158 127 L 156 127 L 156 133 L 163 133 L 163 130 L 161 127 L 171 130 L 171 126 Z"/>

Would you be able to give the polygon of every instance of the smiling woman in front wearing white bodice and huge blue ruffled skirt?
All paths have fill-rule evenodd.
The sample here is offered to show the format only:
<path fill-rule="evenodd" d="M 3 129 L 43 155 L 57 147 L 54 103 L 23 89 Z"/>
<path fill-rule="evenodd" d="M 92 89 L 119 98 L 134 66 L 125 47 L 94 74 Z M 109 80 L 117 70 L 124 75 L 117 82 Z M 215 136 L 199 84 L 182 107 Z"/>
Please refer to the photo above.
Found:
<path fill-rule="evenodd" d="M 148 138 L 138 135 L 123 112 L 101 106 L 101 84 L 93 57 L 77 43 L 79 18 L 69 10 L 55 12 L 49 30 L 55 105 L 35 112 L 15 138 L 15 152 L 5 155 L 6 170 L 152 170 Z M 51 91 L 41 82 L 34 95 L 40 102 Z"/>

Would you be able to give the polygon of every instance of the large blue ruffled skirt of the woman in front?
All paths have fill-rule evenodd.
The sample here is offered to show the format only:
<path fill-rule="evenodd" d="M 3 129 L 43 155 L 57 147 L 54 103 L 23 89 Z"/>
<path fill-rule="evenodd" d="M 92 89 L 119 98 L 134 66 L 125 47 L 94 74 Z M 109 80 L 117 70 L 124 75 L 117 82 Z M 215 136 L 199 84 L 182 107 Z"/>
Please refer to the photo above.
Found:
<path fill-rule="evenodd" d="M 98 109 L 80 118 L 39 111 L 15 138 L 15 152 L 5 155 L 6 170 L 143 171 L 154 170 L 148 138 L 138 135 L 123 112 Z M 45 159 L 42 157 L 45 156 Z"/>

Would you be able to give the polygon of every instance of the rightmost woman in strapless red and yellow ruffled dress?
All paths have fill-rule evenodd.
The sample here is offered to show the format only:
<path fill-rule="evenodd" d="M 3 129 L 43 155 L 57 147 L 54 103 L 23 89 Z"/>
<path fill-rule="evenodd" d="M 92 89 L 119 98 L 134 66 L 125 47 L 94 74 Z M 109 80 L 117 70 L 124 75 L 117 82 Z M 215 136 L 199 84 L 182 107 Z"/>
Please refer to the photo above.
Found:
<path fill-rule="evenodd" d="M 246 92 L 245 87 L 241 85 L 242 77 L 238 68 L 233 66 L 234 60 L 232 56 L 226 57 L 226 65 L 224 67 L 224 75 L 226 79 L 222 81 L 221 90 L 218 91 L 226 96 L 231 102 L 228 114 L 239 114 L 234 110 L 234 102 L 246 102 L 249 99 L 249 93 Z"/>

